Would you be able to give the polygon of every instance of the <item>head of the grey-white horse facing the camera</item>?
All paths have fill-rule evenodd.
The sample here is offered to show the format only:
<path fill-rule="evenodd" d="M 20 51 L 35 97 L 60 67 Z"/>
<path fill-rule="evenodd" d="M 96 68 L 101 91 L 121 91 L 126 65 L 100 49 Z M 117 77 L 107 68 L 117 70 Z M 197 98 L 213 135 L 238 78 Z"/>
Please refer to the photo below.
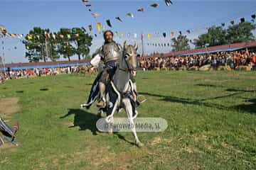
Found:
<path fill-rule="evenodd" d="M 134 45 L 127 45 L 127 42 L 124 41 L 122 65 L 134 76 L 136 75 L 137 69 L 137 49 L 138 45 L 136 43 Z"/>

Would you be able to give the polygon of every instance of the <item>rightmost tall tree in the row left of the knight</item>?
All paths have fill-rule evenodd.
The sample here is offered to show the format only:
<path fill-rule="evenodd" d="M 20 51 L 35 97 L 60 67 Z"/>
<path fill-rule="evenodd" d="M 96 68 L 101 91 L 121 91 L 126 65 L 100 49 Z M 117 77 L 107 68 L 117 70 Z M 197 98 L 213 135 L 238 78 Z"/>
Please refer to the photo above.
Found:
<path fill-rule="evenodd" d="M 78 55 L 78 60 L 82 57 L 87 57 L 90 53 L 92 45 L 92 36 L 85 33 L 81 28 L 72 28 L 73 41 L 75 42 L 75 54 Z"/>

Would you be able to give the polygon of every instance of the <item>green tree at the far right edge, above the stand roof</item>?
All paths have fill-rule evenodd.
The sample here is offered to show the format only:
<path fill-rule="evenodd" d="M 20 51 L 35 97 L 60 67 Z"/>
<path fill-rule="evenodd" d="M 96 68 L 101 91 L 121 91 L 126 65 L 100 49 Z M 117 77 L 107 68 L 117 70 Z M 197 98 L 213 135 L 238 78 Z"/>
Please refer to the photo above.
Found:
<path fill-rule="evenodd" d="M 230 26 L 227 29 L 227 39 L 229 43 L 248 42 L 255 40 L 252 30 L 255 30 L 255 24 L 244 22 Z"/>

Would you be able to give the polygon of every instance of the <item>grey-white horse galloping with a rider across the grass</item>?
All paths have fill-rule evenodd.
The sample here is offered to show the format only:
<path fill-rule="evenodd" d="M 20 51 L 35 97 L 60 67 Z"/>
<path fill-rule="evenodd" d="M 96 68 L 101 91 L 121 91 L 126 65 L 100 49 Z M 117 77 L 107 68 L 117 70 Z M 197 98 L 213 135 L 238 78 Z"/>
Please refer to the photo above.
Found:
<path fill-rule="evenodd" d="M 117 70 L 114 73 L 112 81 L 110 81 L 112 90 L 115 92 L 115 94 L 117 94 L 117 100 L 114 103 L 110 102 L 110 91 L 106 91 L 107 106 L 112 105 L 112 111 L 111 113 L 107 114 L 107 118 L 105 118 L 105 120 L 109 124 L 109 127 L 112 127 L 114 123 L 114 113 L 123 108 L 127 113 L 129 125 L 135 138 L 135 144 L 138 147 L 143 147 L 144 144 L 139 141 L 134 125 L 134 118 L 137 117 L 137 111 L 134 106 L 134 103 L 136 103 L 137 100 L 137 94 L 135 92 L 136 84 L 132 83 L 130 79 L 131 75 L 136 75 L 137 48 L 137 44 L 127 45 L 127 42 L 124 42 L 124 47 L 122 55 L 119 58 Z M 84 108 L 87 107 L 87 105 L 84 104 L 81 105 L 81 107 Z M 112 133 L 112 128 L 110 128 L 108 132 Z"/>

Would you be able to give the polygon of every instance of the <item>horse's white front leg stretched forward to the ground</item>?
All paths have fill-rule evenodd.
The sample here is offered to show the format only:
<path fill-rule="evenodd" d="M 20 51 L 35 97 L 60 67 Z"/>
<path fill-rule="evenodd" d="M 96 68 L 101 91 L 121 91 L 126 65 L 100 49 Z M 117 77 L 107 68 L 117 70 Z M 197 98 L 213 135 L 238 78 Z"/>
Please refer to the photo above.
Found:
<path fill-rule="evenodd" d="M 138 147 L 144 147 L 143 143 L 139 141 L 139 138 L 137 136 L 137 132 L 136 132 L 135 125 L 134 125 L 134 120 L 132 118 L 132 104 L 131 104 L 129 98 L 123 98 L 122 103 L 124 104 L 124 109 L 125 109 L 125 112 L 127 113 L 129 124 L 130 124 L 131 130 L 132 130 L 132 134 L 134 135 L 134 138 L 135 138 L 135 143 Z"/>

